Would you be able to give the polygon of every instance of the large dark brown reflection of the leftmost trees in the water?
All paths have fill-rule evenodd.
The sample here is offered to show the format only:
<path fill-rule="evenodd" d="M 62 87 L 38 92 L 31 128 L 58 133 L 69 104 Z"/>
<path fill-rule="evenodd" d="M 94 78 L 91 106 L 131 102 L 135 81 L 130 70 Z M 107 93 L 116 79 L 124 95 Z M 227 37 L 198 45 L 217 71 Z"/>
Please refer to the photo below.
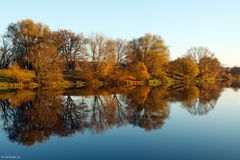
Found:
<path fill-rule="evenodd" d="M 61 101 L 55 95 L 57 93 L 52 93 L 36 91 L 34 99 L 21 103 L 17 108 L 9 105 L 8 110 L 12 110 L 8 114 L 11 123 L 5 123 L 4 129 L 11 141 L 30 146 L 49 138 L 58 124 L 61 110 Z M 5 117 L 4 121 L 7 120 Z"/>

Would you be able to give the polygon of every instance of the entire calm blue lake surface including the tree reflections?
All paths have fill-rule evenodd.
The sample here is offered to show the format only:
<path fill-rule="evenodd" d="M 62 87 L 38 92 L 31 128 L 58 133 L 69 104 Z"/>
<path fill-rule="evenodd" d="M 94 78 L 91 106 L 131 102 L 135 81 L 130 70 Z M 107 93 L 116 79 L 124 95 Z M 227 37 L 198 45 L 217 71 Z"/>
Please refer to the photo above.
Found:
<path fill-rule="evenodd" d="M 240 159 L 240 92 L 213 84 L 8 91 L 1 159 Z"/>

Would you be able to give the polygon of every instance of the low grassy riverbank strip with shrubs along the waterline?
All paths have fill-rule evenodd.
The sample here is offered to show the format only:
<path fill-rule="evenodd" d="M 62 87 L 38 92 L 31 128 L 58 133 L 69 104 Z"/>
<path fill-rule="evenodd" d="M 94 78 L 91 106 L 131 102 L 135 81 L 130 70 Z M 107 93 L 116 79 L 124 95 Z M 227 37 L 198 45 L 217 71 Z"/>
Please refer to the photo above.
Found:
<path fill-rule="evenodd" d="M 48 81 L 45 80 L 44 83 L 36 82 L 36 75 L 31 70 L 20 69 L 19 67 L 13 67 L 10 69 L 1 69 L 0 70 L 0 90 L 6 89 L 34 89 L 37 87 L 46 87 L 53 89 L 66 89 L 66 88 L 99 88 L 99 87 L 119 87 L 119 86 L 149 86 L 155 87 L 159 85 L 174 86 L 176 87 L 179 84 L 184 86 L 196 85 L 201 86 L 205 83 L 216 83 L 221 81 L 220 79 L 201 79 L 188 76 L 177 77 L 173 75 L 168 75 L 164 80 L 161 79 L 148 79 L 148 80 L 138 80 L 135 77 L 126 76 L 117 77 L 115 79 L 103 77 L 98 79 L 94 77 L 93 79 L 84 80 L 82 76 L 79 76 L 80 73 L 77 71 L 74 72 L 63 72 L 63 78 L 59 81 Z M 226 85 L 238 85 L 240 78 L 231 78 L 228 79 Z"/>

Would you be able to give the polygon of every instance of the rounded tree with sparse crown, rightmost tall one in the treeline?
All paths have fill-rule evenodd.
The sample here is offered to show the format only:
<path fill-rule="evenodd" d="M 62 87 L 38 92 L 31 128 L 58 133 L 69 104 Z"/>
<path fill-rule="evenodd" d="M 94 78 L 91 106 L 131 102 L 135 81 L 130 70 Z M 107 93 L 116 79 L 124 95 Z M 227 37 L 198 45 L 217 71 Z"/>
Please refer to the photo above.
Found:
<path fill-rule="evenodd" d="M 207 48 L 191 48 L 186 56 L 198 64 L 199 77 L 202 79 L 215 79 L 222 70 L 219 60 Z"/>

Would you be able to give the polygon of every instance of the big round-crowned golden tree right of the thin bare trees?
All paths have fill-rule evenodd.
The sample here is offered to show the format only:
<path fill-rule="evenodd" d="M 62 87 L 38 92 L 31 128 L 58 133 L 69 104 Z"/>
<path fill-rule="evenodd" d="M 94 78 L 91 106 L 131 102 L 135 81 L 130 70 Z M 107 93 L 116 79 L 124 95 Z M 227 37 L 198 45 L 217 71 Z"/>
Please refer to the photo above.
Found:
<path fill-rule="evenodd" d="M 169 61 L 169 51 L 160 36 L 145 34 L 143 37 L 130 41 L 129 61 L 143 62 L 153 77 L 165 72 Z"/>

